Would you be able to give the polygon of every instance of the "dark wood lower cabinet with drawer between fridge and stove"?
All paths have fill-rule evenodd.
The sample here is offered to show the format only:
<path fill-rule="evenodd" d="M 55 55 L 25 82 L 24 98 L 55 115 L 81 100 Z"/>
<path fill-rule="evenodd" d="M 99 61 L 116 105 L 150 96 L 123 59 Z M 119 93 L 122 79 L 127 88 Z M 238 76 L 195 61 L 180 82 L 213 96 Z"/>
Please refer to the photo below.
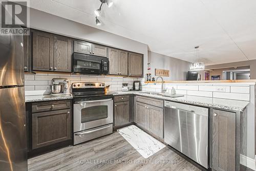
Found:
<path fill-rule="evenodd" d="M 70 100 L 34 102 L 31 104 L 30 149 L 34 150 L 72 140 L 70 104 Z"/>

